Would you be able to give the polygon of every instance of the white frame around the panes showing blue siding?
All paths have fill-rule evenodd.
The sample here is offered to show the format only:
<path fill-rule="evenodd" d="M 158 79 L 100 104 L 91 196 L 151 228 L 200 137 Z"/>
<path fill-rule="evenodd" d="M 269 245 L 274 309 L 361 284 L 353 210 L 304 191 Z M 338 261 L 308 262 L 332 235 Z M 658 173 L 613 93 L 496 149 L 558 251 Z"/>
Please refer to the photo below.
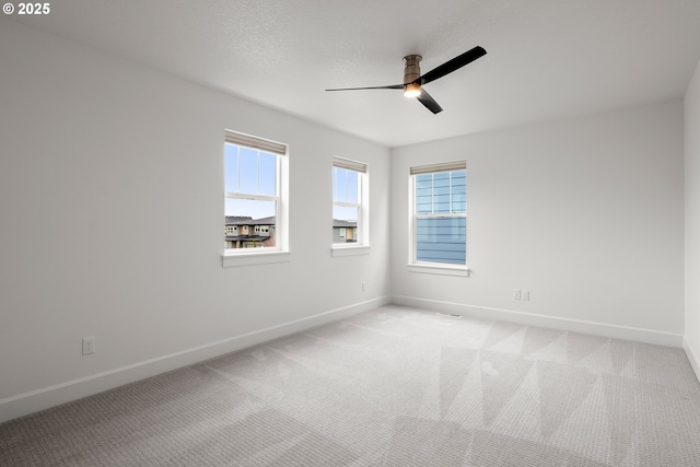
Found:
<path fill-rule="evenodd" d="M 408 264 L 407 269 L 409 272 L 422 272 L 443 276 L 458 276 L 468 277 L 469 266 L 468 261 L 465 264 L 454 262 L 438 262 L 438 261 L 424 261 L 418 259 L 418 220 L 419 219 L 434 219 L 434 218 L 464 218 L 465 219 L 465 252 L 467 252 L 467 241 L 469 238 L 466 235 L 467 229 L 467 215 L 468 209 L 465 207 L 464 213 L 417 213 L 416 212 L 416 194 L 417 194 L 417 176 L 421 174 L 435 174 L 442 172 L 467 170 L 467 163 L 465 160 L 452 161 L 439 164 L 417 165 L 411 166 L 409 170 L 409 183 L 408 183 Z M 466 192 L 465 192 L 466 194 Z M 452 189 L 451 189 L 452 197 Z"/>

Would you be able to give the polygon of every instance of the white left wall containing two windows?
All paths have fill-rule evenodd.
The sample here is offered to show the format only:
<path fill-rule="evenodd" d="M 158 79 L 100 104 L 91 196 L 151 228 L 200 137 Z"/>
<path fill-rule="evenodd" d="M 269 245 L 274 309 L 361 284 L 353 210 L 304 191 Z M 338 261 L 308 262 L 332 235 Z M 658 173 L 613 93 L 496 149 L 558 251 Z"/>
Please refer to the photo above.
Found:
<path fill-rule="evenodd" d="M 7 20 L 0 63 L 0 421 L 388 300 L 386 148 Z M 222 268 L 224 128 L 290 147 L 288 264 Z M 332 155 L 370 255 L 330 256 Z"/>

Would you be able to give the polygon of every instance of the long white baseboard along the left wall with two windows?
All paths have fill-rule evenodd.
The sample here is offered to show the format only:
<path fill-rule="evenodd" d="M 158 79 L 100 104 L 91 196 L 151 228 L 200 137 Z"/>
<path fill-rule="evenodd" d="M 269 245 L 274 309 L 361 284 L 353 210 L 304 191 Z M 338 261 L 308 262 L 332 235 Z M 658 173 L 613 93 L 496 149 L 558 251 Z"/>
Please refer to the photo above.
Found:
<path fill-rule="evenodd" d="M 234 336 L 217 342 L 206 343 L 196 348 L 0 399 L 0 423 L 102 393 L 135 381 L 188 366 L 338 319 L 343 319 L 388 303 L 390 303 L 389 296 L 381 296 L 258 331 Z"/>

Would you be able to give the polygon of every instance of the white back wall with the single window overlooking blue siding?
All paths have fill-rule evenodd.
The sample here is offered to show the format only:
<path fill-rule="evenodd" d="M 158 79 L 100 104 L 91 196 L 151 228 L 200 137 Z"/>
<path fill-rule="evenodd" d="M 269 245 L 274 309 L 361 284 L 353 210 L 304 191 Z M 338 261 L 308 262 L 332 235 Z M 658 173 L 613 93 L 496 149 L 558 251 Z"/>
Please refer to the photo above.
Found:
<path fill-rule="evenodd" d="M 676 101 L 394 149 L 394 300 L 680 346 L 682 118 Z M 458 159 L 470 277 L 408 272 L 409 167 Z"/>

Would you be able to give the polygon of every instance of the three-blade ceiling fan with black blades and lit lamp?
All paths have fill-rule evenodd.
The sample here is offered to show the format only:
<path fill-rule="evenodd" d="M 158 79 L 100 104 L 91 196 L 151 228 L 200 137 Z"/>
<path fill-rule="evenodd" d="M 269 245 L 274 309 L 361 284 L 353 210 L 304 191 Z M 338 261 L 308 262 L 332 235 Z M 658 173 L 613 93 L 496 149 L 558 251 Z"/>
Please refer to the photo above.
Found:
<path fill-rule="evenodd" d="M 450 74 L 476 60 L 483 57 L 486 50 L 482 47 L 476 46 L 475 48 L 465 51 L 464 54 L 447 60 L 440 67 L 433 68 L 425 74 L 420 74 L 420 55 L 407 55 L 404 57 L 404 84 L 392 84 L 388 86 L 372 86 L 372 87 L 343 87 L 326 91 L 360 91 L 360 90 L 404 90 L 406 97 L 416 97 L 421 104 L 423 104 L 430 112 L 438 114 L 442 112 L 440 104 L 431 97 L 425 90 L 422 89 L 424 84 L 435 81 L 439 78 Z"/>

